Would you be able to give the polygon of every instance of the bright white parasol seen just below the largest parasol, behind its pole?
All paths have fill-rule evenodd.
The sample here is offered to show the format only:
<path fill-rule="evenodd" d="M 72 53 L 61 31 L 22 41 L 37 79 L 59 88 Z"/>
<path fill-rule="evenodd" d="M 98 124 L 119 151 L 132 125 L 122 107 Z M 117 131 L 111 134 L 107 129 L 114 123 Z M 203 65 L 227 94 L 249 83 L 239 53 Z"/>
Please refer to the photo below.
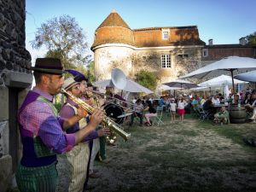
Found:
<path fill-rule="evenodd" d="M 242 83 L 246 83 L 246 82 L 234 79 L 234 83 L 242 84 Z M 207 80 L 198 85 L 201 87 L 216 87 L 216 86 L 220 87 L 220 86 L 226 85 L 226 84 L 229 84 L 229 85 L 232 84 L 232 78 L 228 75 L 220 75 L 217 78 Z"/>

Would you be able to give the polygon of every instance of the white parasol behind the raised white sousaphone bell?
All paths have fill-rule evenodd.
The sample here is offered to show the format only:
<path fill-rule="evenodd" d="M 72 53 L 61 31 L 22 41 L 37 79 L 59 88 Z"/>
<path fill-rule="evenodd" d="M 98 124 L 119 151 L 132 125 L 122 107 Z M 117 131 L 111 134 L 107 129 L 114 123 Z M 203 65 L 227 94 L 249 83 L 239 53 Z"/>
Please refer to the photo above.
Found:
<path fill-rule="evenodd" d="M 110 83 L 110 79 L 105 79 L 105 80 L 96 81 L 93 84 L 99 87 L 106 87 L 108 86 L 109 83 Z M 152 90 L 148 90 L 148 88 L 143 87 L 143 85 L 141 84 L 137 84 L 131 79 L 127 79 L 124 90 L 132 93 L 140 93 L 140 92 L 147 93 L 147 94 L 153 93 Z"/>

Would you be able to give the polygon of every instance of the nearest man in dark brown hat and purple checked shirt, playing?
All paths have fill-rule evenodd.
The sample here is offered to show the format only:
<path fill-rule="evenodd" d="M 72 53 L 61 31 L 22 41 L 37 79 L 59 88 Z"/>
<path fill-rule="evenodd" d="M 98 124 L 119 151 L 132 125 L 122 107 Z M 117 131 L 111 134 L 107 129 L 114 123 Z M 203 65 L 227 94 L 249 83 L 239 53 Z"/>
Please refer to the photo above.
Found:
<path fill-rule="evenodd" d="M 54 192 L 58 178 L 56 154 L 66 153 L 83 141 L 102 122 L 104 115 L 102 110 L 96 109 L 86 128 L 70 134 L 62 131 L 87 113 L 79 108 L 78 113 L 69 119 L 58 117 L 52 101 L 63 84 L 64 71 L 60 60 L 38 58 L 32 70 L 36 86 L 28 92 L 18 113 L 23 154 L 16 181 L 20 192 L 45 189 Z"/>

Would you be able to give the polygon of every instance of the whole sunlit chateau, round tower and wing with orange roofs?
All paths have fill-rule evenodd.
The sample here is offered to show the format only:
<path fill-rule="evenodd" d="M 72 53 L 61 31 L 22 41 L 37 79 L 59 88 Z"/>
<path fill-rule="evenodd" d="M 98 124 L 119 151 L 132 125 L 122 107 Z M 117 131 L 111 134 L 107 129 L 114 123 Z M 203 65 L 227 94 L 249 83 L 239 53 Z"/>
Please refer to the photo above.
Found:
<path fill-rule="evenodd" d="M 159 84 L 201 67 L 197 26 L 149 27 L 131 30 L 113 11 L 95 32 L 95 76 L 109 79 L 114 67 L 131 79 L 140 70 L 155 73 Z"/>

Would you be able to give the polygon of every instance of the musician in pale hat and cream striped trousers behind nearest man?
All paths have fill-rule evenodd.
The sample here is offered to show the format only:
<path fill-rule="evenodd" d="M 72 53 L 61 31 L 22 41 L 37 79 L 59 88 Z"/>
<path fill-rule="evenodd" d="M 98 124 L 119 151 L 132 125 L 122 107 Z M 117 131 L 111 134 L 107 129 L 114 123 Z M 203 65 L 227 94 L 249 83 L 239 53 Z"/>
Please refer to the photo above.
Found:
<path fill-rule="evenodd" d="M 73 96 L 81 96 L 80 82 L 75 81 L 73 78 L 66 79 L 63 87 Z M 67 102 L 61 108 L 60 116 L 64 119 L 73 116 L 77 113 L 77 107 L 77 104 L 67 96 Z M 74 133 L 79 129 L 84 129 L 86 124 L 86 119 L 80 119 L 78 123 L 67 129 L 67 133 Z M 68 164 L 72 166 L 71 172 L 67 173 L 71 176 L 68 191 L 83 191 L 90 160 L 89 141 L 107 135 L 108 129 L 92 131 L 89 136 L 84 138 L 84 143 L 79 143 L 66 154 Z"/>

